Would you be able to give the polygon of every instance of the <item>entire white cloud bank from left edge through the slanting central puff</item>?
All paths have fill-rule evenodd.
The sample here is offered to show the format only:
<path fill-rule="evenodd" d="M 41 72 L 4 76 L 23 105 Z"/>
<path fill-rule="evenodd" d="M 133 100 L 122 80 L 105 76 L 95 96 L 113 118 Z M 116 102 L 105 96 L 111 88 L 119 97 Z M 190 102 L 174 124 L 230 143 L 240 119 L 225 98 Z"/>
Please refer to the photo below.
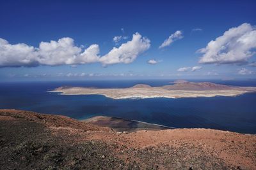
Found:
<path fill-rule="evenodd" d="M 150 40 L 142 37 L 138 32 L 131 41 L 113 48 L 109 53 L 100 57 L 99 45 L 83 46 L 74 45 L 74 39 L 61 38 L 58 41 L 41 42 L 38 48 L 24 43 L 12 45 L 0 38 L 0 67 L 19 66 L 59 66 L 87 64 L 101 62 L 102 65 L 117 63 L 131 63 L 140 53 L 148 50 Z"/>

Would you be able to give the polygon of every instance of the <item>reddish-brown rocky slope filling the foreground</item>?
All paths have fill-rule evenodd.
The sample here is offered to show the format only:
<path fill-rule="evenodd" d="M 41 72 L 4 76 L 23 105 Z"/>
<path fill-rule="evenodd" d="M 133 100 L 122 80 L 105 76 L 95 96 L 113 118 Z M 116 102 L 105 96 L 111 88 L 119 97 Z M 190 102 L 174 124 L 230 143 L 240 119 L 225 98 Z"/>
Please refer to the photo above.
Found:
<path fill-rule="evenodd" d="M 256 136 L 211 129 L 120 133 L 0 110 L 0 169 L 256 169 Z"/>

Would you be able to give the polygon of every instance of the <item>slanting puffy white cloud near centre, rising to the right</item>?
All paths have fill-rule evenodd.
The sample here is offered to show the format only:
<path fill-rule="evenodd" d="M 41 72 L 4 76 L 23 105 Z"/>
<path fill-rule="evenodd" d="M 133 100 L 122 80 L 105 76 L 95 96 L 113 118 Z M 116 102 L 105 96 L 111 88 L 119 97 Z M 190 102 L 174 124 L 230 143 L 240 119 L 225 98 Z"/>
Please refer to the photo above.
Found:
<path fill-rule="evenodd" d="M 131 63 L 140 53 L 145 52 L 150 47 L 150 40 L 142 37 L 138 32 L 133 34 L 132 40 L 123 43 L 118 48 L 113 48 L 109 53 L 100 57 L 99 61 L 103 65 L 116 63 Z"/>

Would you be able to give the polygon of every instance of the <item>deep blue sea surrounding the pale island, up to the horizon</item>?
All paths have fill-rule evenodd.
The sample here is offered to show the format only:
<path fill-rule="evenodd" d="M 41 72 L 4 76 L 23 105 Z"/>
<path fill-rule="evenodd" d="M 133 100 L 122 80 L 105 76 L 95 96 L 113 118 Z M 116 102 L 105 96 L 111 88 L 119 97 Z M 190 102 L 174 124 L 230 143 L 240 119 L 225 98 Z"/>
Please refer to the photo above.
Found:
<path fill-rule="evenodd" d="M 237 97 L 115 100 L 97 95 L 61 96 L 47 92 L 62 85 L 107 88 L 131 87 L 138 83 L 160 86 L 170 81 L 172 80 L 0 82 L 0 108 L 67 115 L 76 119 L 105 115 L 170 127 L 204 127 L 256 134 L 256 93 Z M 256 86 L 255 80 L 212 82 Z"/>

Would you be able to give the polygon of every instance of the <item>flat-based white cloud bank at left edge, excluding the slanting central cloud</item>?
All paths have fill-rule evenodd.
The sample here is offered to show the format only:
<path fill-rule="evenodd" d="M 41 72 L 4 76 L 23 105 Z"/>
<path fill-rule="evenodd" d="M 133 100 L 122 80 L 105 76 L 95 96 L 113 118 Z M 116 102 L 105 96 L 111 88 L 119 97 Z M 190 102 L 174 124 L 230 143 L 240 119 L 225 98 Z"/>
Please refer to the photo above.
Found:
<path fill-rule="evenodd" d="M 0 66 L 86 64 L 99 60 L 98 53 L 98 45 L 91 45 L 82 53 L 72 38 L 41 42 L 38 48 L 22 43 L 11 45 L 0 38 Z"/>

